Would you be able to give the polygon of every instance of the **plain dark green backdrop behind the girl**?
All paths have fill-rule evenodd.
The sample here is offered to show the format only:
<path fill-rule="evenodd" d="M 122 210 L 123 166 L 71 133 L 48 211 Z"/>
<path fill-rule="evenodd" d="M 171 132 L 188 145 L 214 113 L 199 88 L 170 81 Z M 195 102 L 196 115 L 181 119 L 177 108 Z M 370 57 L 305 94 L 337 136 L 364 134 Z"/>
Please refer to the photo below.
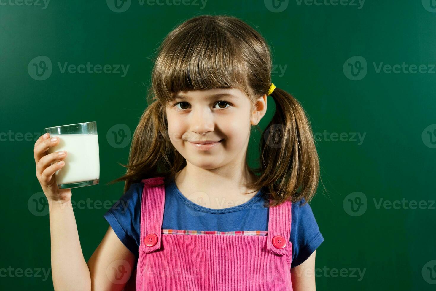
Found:
<path fill-rule="evenodd" d="M 132 0 L 129 9 L 115 12 L 105 1 L 51 0 L 43 9 L 43 2 L 18 6 L 2 0 L 0 289 L 53 288 L 51 272 L 45 281 L 44 275 L 14 273 L 51 267 L 49 217 L 38 212 L 44 203 L 38 209 L 33 204 L 42 202 L 34 138 L 45 127 L 97 122 L 100 184 L 72 191 L 73 200 L 82 203 L 75 217 L 88 260 L 108 227 L 102 217 L 108 203 L 123 194 L 123 183 L 106 183 L 125 171 L 117 163 L 127 162 L 130 143 L 117 148 L 107 133 L 114 126 L 133 133 L 146 106 L 150 57 L 178 23 L 200 14 L 230 14 L 257 26 L 272 47 L 273 82 L 300 100 L 314 133 L 326 133 L 317 135 L 325 188 L 311 202 L 325 238 L 317 249 L 317 289 L 434 290 L 436 9 L 430 1 L 368 0 L 363 6 L 351 0 L 336 6 L 277 1 L 279 9 L 287 5 L 277 12 L 272 0 L 209 0 L 203 9 L 194 0 L 180 6 Z M 51 75 L 42 81 L 27 70 L 38 56 L 52 62 Z M 348 61 L 354 56 L 361 58 Z M 362 59 L 367 65 L 358 62 Z M 58 62 L 129 68 L 124 77 L 61 73 Z M 403 62 L 425 69 L 376 70 L 381 63 Z M 351 80 L 351 66 L 361 72 L 359 80 Z M 268 101 L 262 128 L 274 112 L 271 97 Z M 364 139 L 353 138 L 355 133 Z M 256 146 L 250 144 L 250 153 Z M 83 207 L 87 199 L 90 204 Z M 410 209 L 412 200 L 426 206 Z M 359 201 L 359 208 L 351 205 Z M 400 207 L 378 207 L 380 201 Z M 12 275 L 4 276 L 7 268 Z"/>

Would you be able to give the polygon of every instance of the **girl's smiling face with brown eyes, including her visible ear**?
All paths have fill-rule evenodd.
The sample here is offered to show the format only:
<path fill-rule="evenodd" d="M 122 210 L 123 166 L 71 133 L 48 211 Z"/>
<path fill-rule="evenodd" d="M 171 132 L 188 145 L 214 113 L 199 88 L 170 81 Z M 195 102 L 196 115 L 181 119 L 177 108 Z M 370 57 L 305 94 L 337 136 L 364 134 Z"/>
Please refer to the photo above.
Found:
<path fill-rule="evenodd" d="M 266 112 L 266 95 L 252 112 L 249 97 L 239 89 L 178 92 L 166 107 L 168 134 L 187 163 L 219 168 L 245 157 L 250 127 Z M 200 145 L 212 143 L 209 145 Z"/>

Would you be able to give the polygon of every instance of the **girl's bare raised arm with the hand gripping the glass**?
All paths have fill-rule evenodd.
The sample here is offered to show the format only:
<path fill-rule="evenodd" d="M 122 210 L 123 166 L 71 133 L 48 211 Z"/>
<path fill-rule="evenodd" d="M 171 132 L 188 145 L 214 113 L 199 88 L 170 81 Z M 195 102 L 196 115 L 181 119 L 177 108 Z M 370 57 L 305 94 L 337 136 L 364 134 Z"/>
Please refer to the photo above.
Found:
<path fill-rule="evenodd" d="M 65 165 L 65 162 L 56 162 L 63 161 L 68 153 L 48 154 L 48 149 L 58 143 L 59 138 L 52 141 L 50 134 L 44 134 L 36 141 L 33 151 L 36 176 L 48 200 L 54 290 L 121 290 L 126 283 L 123 281 L 127 281 L 123 278 L 130 277 L 135 256 L 109 227 L 88 264 L 85 262 L 71 203 L 71 189 L 58 189 L 54 178 L 55 171 Z M 122 268 L 123 276 L 113 272 Z"/>

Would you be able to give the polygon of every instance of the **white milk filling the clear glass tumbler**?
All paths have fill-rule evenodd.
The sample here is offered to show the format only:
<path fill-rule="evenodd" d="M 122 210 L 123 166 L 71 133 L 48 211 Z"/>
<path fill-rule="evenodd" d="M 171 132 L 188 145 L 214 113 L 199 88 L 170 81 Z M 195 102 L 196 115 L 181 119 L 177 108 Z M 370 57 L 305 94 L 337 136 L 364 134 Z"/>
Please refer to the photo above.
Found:
<path fill-rule="evenodd" d="M 99 140 L 97 134 L 50 134 L 50 138 L 52 137 L 59 137 L 59 144 L 55 147 L 50 147 L 48 149 L 49 154 L 56 151 L 67 151 L 67 156 L 63 160 L 65 165 L 54 174 L 57 184 L 68 184 L 100 178 Z"/>

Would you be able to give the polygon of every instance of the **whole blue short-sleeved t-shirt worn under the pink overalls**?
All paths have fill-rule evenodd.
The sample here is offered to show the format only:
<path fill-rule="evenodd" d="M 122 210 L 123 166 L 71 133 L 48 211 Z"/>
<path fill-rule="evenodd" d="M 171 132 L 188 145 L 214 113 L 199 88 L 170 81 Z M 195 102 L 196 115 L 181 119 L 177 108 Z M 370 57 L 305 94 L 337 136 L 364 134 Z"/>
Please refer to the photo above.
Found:
<path fill-rule="evenodd" d="M 105 215 L 123 244 L 138 257 L 140 215 L 144 183 L 133 183 L 129 190 Z M 249 201 L 224 209 L 211 209 L 187 199 L 174 179 L 165 187 L 162 229 L 204 231 L 268 230 L 269 208 L 266 196 L 259 190 Z M 290 241 L 291 267 L 303 263 L 324 241 L 310 205 L 300 200 L 292 204 Z"/>

